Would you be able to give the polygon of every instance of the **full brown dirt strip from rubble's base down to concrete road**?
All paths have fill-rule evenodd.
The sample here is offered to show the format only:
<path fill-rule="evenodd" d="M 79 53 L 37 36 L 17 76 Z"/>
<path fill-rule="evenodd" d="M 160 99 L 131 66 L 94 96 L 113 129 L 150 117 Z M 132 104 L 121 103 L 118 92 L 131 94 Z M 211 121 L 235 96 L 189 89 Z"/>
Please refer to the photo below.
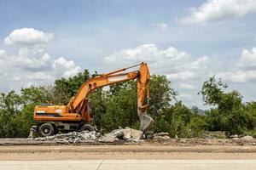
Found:
<path fill-rule="evenodd" d="M 149 139 L 138 143 L 56 144 L 0 139 L 0 161 L 58 160 L 256 160 L 256 139 Z"/>

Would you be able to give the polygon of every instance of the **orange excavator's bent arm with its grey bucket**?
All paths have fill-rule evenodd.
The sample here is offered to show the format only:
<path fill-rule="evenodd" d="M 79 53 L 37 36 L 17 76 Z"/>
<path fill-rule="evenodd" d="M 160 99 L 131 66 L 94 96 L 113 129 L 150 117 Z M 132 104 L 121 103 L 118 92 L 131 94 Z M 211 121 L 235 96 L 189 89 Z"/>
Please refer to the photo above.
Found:
<path fill-rule="evenodd" d="M 120 69 L 117 71 L 111 71 L 107 74 L 102 74 L 97 77 L 93 77 L 84 82 L 78 93 L 70 99 L 68 106 L 70 112 L 79 113 L 85 122 L 90 122 L 89 113 L 89 94 L 96 88 L 102 88 L 118 82 L 126 82 L 129 80 L 137 79 L 137 114 L 141 120 L 141 129 L 147 130 L 153 124 L 153 119 L 147 115 L 148 105 L 144 104 L 145 97 L 149 99 L 149 71 L 148 65 L 145 63 L 140 64 L 139 71 L 130 71 L 122 73 L 132 67 Z M 145 95 L 146 94 L 146 95 Z"/>

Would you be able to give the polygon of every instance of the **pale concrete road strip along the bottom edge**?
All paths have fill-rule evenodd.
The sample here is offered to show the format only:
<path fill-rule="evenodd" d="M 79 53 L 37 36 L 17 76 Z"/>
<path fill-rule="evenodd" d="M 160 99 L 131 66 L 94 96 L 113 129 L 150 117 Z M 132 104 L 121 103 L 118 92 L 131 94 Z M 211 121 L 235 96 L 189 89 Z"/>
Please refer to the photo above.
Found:
<path fill-rule="evenodd" d="M 0 161 L 8 170 L 253 170 L 256 160 L 87 160 L 87 161 Z"/>

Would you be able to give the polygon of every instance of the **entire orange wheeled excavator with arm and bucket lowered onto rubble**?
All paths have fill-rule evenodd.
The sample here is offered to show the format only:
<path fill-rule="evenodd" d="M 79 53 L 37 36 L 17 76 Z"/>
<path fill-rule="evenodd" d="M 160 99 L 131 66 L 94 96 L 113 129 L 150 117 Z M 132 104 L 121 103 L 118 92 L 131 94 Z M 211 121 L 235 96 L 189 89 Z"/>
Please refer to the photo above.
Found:
<path fill-rule="evenodd" d="M 133 67 L 139 66 L 138 71 L 124 72 Z M 93 131 L 95 127 L 91 126 L 92 114 L 90 108 L 89 94 L 104 86 L 119 82 L 137 80 L 137 115 L 139 116 L 141 126 L 140 130 L 148 131 L 154 120 L 148 116 L 149 99 L 149 71 L 146 63 L 133 65 L 116 71 L 110 71 L 85 81 L 79 88 L 79 91 L 67 105 L 42 104 L 36 105 L 33 119 L 38 122 L 37 126 L 32 126 L 32 133 L 38 132 L 40 136 L 50 136 L 62 131 Z M 146 100 L 146 101 L 144 101 Z M 146 104 L 145 104 L 146 103 Z"/>

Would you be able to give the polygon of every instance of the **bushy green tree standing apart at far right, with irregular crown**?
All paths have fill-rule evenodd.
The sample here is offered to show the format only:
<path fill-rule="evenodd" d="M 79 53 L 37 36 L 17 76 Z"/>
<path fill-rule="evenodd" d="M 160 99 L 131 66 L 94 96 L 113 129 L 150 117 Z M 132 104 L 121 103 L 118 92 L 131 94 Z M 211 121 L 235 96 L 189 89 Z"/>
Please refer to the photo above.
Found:
<path fill-rule="evenodd" d="M 254 122 L 253 116 L 245 111 L 242 96 L 236 90 L 225 93 L 227 88 L 221 80 L 210 77 L 203 83 L 201 94 L 206 105 L 216 106 L 207 111 L 210 130 L 221 130 L 228 134 L 245 133 Z"/>

